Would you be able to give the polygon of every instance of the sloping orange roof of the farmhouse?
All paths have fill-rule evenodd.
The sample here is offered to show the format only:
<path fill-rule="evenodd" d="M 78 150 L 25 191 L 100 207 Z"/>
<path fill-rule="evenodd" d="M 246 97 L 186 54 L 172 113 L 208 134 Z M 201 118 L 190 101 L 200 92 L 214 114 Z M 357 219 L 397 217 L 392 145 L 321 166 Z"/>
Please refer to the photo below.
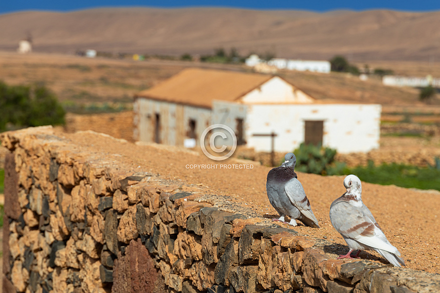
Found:
<path fill-rule="evenodd" d="M 188 68 L 152 88 L 138 92 L 135 97 L 210 108 L 212 100 L 234 101 L 272 77 L 256 73 Z"/>

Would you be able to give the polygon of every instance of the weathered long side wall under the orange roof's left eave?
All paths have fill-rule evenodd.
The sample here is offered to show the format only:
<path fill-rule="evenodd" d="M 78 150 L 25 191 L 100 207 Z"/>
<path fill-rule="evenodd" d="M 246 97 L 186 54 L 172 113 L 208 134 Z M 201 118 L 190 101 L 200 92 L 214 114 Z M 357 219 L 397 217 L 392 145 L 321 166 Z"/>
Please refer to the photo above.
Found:
<path fill-rule="evenodd" d="M 170 145 L 183 145 L 183 140 L 187 138 L 186 133 L 189 130 L 189 119 L 196 121 L 195 132 L 199 137 L 210 125 L 211 117 L 210 109 L 147 98 L 136 99 L 134 112 L 134 136 L 138 140 L 153 141 L 155 113 L 159 113 L 161 143 Z"/>

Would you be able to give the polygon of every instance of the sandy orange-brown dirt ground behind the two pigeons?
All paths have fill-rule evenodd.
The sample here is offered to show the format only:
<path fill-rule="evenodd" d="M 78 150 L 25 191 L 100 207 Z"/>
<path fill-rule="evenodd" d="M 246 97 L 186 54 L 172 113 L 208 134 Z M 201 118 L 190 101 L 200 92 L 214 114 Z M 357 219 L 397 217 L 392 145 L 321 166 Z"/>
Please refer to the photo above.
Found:
<path fill-rule="evenodd" d="M 126 163 L 138 170 L 158 173 L 164 178 L 179 179 L 203 185 L 214 194 L 231 196 L 234 200 L 271 218 L 276 215 L 271 207 L 265 181 L 270 167 L 255 165 L 251 169 L 188 168 L 189 164 L 236 163 L 233 160 L 216 162 L 196 152 L 162 145 L 121 143 L 113 138 L 90 132 L 58 135 L 80 144 L 84 150 L 118 153 Z M 245 162 L 245 161 L 244 161 Z M 243 163 L 243 161 L 241 161 Z M 345 253 L 347 246 L 331 226 L 328 210 L 331 202 L 345 188 L 344 176 L 319 176 L 298 173 L 320 229 L 298 225 L 291 227 L 300 233 L 325 238 Z M 370 208 L 389 241 L 401 252 L 407 267 L 440 273 L 440 192 L 417 191 L 401 187 L 362 183 L 362 199 Z M 287 224 L 282 224 L 288 227 Z M 361 253 L 361 257 L 376 258 L 375 252 Z"/>

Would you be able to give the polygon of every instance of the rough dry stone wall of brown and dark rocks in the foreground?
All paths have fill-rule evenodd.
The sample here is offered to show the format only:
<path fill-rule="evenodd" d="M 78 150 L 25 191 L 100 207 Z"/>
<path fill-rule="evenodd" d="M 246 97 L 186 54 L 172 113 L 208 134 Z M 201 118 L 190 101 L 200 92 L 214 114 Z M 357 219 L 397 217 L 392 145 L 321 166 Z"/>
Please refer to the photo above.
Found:
<path fill-rule="evenodd" d="M 335 244 L 225 196 L 5 132 L 3 292 L 434 292 L 440 275 L 334 259 Z M 337 244 L 336 244 L 337 245 Z"/>

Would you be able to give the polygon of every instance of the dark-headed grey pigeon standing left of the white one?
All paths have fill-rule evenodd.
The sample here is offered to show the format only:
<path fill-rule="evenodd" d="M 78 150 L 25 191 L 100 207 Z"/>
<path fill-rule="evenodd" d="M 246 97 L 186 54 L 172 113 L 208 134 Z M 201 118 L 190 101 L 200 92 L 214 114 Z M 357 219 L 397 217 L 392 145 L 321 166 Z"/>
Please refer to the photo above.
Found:
<path fill-rule="evenodd" d="M 289 152 L 284 156 L 281 166 L 273 168 L 267 174 L 266 191 L 270 204 L 279 213 L 278 220 L 284 222 L 284 216 L 290 216 L 290 225 L 296 226 L 298 219 L 304 225 L 319 228 L 318 220 L 311 211 L 310 202 L 305 195 L 301 182 L 294 171 L 296 157 Z"/>

